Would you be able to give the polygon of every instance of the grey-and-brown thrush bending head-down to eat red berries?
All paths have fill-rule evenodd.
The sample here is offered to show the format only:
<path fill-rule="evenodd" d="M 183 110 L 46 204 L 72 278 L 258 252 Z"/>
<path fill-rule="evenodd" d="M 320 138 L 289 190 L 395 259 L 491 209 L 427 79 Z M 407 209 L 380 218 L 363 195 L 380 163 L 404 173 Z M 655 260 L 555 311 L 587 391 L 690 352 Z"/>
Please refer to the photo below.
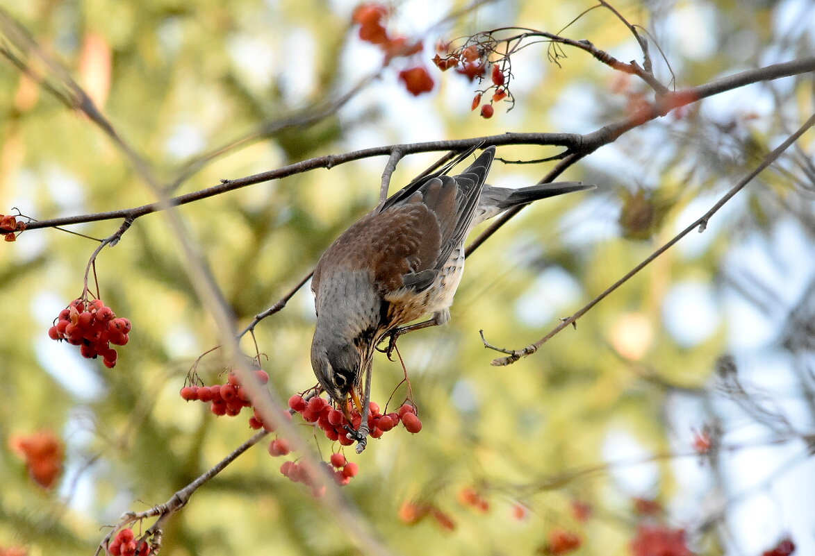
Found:
<path fill-rule="evenodd" d="M 489 186 L 487 173 L 495 155 L 496 147 L 487 147 L 462 173 L 447 175 L 460 156 L 397 191 L 350 225 L 315 266 L 311 291 L 317 322 L 311 366 L 320 387 L 349 422 L 351 401 L 361 412 L 363 397 L 367 409 L 372 357 L 381 340 L 450 319 L 470 230 L 509 208 L 594 187 L 581 182 L 519 189 Z M 425 315 L 430 318 L 410 325 Z M 362 434 L 356 436 L 362 448 L 365 423 L 363 419 Z"/>

